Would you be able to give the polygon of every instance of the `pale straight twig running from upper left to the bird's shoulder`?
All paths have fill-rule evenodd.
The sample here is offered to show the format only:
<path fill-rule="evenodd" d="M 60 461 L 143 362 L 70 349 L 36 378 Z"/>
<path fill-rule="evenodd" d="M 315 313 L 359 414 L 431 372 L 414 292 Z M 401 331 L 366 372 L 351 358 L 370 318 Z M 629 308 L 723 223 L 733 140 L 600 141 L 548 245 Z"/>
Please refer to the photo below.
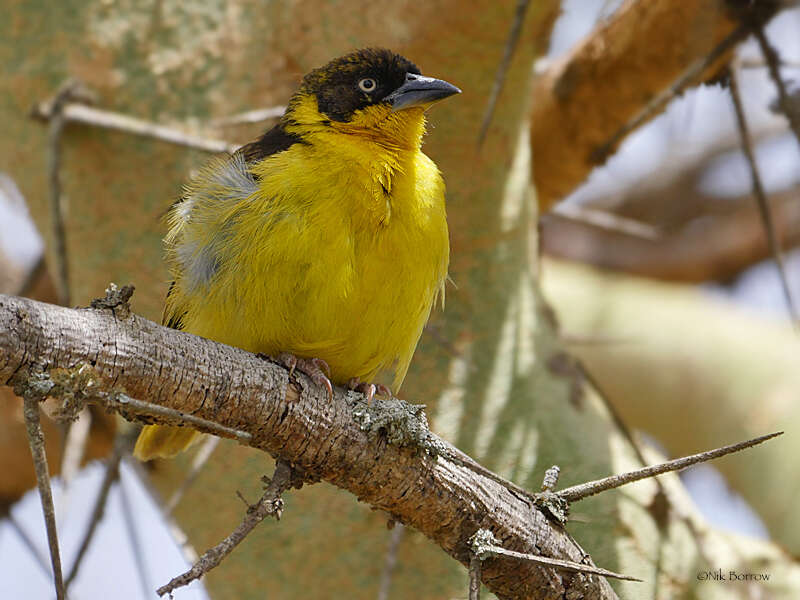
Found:
<path fill-rule="evenodd" d="M 161 140 L 162 142 L 204 150 L 205 152 L 227 152 L 232 154 L 239 148 L 238 144 L 192 135 L 172 127 L 157 125 L 150 121 L 145 121 L 144 119 L 129 117 L 128 115 L 110 110 L 101 110 L 84 104 L 65 104 L 60 114 L 65 121 L 151 137 Z M 33 109 L 33 116 L 39 119 L 49 119 L 52 122 L 54 114 L 50 103 L 42 102 L 35 106 Z"/>

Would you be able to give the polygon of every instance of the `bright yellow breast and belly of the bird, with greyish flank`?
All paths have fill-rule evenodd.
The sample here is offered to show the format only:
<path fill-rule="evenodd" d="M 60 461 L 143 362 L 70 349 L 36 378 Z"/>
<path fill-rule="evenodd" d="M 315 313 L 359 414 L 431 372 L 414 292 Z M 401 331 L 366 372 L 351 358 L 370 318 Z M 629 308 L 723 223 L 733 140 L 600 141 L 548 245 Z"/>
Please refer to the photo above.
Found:
<path fill-rule="evenodd" d="M 397 391 L 449 256 L 444 184 L 418 148 L 334 129 L 251 168 L 215 163 L 172 215 L 183 329 L 317 357 Z"/>

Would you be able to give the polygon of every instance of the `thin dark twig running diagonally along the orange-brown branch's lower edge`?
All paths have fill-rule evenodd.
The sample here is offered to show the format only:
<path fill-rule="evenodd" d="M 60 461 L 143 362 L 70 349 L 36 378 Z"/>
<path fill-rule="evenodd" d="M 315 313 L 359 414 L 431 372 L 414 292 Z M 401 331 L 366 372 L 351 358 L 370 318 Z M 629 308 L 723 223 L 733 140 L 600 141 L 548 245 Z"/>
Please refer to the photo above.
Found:
<path fill-rule="evenodd" d="M 645 121 L 649 120 L 654 114 L 659 112 L 670 100 L 677 96 L 683 89 L 691 84 L 706 69 L 712 66 L 726 52 L 731 50 L 736 44 L 743 40 L 750 33 L 750 28 L 740 25 L 729 33 L 719 44 L 714 47 L 706 56 L 700 57 L 692 62 L 691 65 L 678 77 L 671 86 L 657 94 L 648 102 L 636 115 L 627 123 L 620 127 L 604 144 L 598 146 L 591 154 L 591 161 L 600 164 L 608 157 L 620 141 L 631 131 L 637 129 Z"/>

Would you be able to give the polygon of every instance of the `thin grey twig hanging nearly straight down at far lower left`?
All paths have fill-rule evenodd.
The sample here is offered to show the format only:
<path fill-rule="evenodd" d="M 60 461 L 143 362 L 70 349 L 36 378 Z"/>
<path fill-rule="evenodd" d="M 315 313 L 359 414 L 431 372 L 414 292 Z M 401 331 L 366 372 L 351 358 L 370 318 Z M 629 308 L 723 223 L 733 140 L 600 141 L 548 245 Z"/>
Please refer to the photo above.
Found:
<path fill-rule="evenodd" d="M 50 473 L 47 468 L 47 455 L 44 450 L 44 434 L 39 420 L 39 400 L 35 396 L 24 398 L 25 427 L 28 431 L 28 442 L 31 446 L 33 466 L 36 470 L 36 484 L 39 498 L 42 501 L 42 512 L 47 527 L 47 543 L 50 546 L 50 562 L 53 566 L 53 580 L 56 588 L 56 599 L 64 600 L 64 577 L 61 574 L 61 553 L 58 548 L 58 532 L 56 531 L 56 511 L 53 506 L 53 490 L 50 487 Z"/>

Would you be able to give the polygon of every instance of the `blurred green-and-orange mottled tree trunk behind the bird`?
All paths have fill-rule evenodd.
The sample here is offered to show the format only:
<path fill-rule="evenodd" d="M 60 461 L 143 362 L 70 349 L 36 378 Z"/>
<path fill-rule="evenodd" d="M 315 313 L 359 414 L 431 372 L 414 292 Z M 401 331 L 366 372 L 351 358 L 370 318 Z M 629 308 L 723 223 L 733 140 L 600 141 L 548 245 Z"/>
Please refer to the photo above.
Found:
<path fill-rule="evenodd" d="M 0 156 L 49 231 L 43 131 L 20 114 L 66 75 L 97 89 L 104 107 L 161 122 L 205 122 L 284 102 L 303 73 L 353 47 L 402 52 L 464 94 L 432 111 L 426 143 L 448 185 L 455 285 L 448 287 L 446 311 L 434 315 L 423 337 L 401 395 L 435 399 L 428 414 L 436 431 L 532 489 L 555 463 L 565 486 L 626 470 L 636 466 L 634 454 L 564 351 L 537 281 L 526 116 L 533 59 L 547 43 L 556 0 L 531 3 L 493 125 L 476 148 L 515 5 L 313 0 L 198 7 L 71 0 L 45 10 L 43 3 L 20 2 L 13 23 L 0 24 L 7 40 L 0 59 L 14 65 L 0 81 L 7 98 L 0 117 L 15 117 L 0 140 Z M 53 46 L 29 33 L 42 22 Z M 246 141 L 259 129 L 223 133 Z M 157 318 L 166 281 L 158 218 L 188 169 L 206 157 L 77 127 L 67 130 L 65 148 L 73 298 L 86 304 L 109 280 L 134 282 L 134 308 Z M 159 465 L 153 472 L 159 488 L 174 489 L 188 462 L 184 456 Z M 238 523 L 243 509 L 234 491 L 254 498 L 260 476 L 270 470 L 264 463 L 259 453 L 220 446 L 177 511 L 195 546 L 216 543 Z M 680 496 L 675 479 L 666 479 L 672 495 Z M 660 597 L 685 594 L 697 585 L 698 569 L 746 566 L 753 555 L 780 564 L 770 548 L 751 546 L 749 554 L 735 555 L 730 540 L 716 534 L 707 537 L 719 546 L 715 562 L 708 562 L 686 522 L 658 510 L 656 491 L 644 482 L 575 507 L 570 529 L 595 561 L 648 582 L 619 585 L 621 595 L 647 597 L 642 590 L 653 587 Z M 287 499 L 280 524 L 260 527 L 206 583 L 216 600 L 332 593 L 374 598 L 388 543 L 385 519 L 330 486 L 303 489 Z M 461 566 L 420 536 L 406 537 L 398 559 L 391 597 L 465 594 Z"/>

